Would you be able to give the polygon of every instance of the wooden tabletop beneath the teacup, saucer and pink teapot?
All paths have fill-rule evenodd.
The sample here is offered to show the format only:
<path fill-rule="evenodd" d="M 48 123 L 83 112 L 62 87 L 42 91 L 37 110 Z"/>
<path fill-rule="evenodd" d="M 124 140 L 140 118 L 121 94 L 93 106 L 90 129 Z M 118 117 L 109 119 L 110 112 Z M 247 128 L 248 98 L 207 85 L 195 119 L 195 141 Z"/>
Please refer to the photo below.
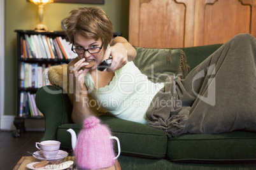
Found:
<path fill-rule="evenodd" d="M 74 161 L 74 164 L 72 166 L 70 166 L 67 170 L 80 170 L 80 168 L 76 167 L 76 161 L 75 161 L 75 157 L 65 157 L 64 159 L 62 159 L 62 162 L 66 162 L 68 160 L 72 160 Z M 30 164 L 32 162 L 39 162 L 40 160 L 35 159 L 34 157 L 22 157 L 18 163 L 16 164 L 16 166 L 13 168 L 13 170 L 29 170 L 29 168 L 27 168 L 27 164 Z M 111 169 L 115 169 L 115 170 L 121 170 L 120 164 L 118 161 L 116 161 L 115 166 L 111 166 L 109 168 L 106 168 L 105 170 L 111 170 Z"/>

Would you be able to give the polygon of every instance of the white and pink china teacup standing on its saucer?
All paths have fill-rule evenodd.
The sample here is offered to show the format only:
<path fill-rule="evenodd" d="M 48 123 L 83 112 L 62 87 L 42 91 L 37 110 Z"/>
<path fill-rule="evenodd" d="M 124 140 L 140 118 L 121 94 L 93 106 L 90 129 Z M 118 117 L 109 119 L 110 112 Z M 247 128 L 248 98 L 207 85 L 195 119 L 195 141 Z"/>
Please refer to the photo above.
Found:
<path fill-rule="evenodd" d="M 36 148 L 41 150 L 46 159 L 52 159 L 55 158 L 59 152 L 60 142 L 55 140 L 46 140 L 40 143 L 36 142 Z"/>

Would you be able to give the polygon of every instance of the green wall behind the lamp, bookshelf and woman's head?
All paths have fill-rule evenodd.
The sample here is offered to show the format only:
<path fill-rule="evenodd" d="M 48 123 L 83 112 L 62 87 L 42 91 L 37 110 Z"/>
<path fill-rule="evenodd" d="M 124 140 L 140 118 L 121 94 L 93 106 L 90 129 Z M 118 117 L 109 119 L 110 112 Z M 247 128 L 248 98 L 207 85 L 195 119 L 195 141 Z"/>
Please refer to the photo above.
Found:
<path fill-rule="evenodd" d="M 49 30 L 61 30 L 60 22 L 69 11 L 83 6 L 100 6 L 113 22 L 114 32 L 128 38 L 129 0 L 105 0 L 104 4 L 52 3 L 44 6 L 43 23 Z M 39 22 L 38 6 L 27 0 L 5 1 L 4 115 L 16 114 L 16 34 L 31 30 Z"/>

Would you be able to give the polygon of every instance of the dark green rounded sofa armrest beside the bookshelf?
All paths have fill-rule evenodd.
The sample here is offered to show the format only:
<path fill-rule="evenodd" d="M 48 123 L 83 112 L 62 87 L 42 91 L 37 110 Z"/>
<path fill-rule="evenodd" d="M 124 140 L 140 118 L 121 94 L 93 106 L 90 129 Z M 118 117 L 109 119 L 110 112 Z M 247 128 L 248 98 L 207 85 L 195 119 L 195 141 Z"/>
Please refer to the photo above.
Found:
<path fill-rule="evenodd" d="M 45 134 L 41 141 L 56 140 L 59 126 L 72 122 L 72 105 L 62 91 L 57 86 L 43 86 L 36 92 L 36 106 L 45 116 Z"/>

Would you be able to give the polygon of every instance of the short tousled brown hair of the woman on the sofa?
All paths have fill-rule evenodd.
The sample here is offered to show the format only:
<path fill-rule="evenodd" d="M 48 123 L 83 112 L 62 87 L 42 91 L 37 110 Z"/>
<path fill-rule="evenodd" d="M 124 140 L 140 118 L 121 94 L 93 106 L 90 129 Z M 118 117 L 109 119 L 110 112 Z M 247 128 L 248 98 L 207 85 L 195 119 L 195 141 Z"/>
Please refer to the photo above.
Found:
<path fill-rule="evenodd" d="M 74 43 L 74 35 L 78 33 L 87 38 L 102 39 L 103 48 L 107 48 L 113 37 L 113 24 L 101 8 L 78 8 L 70 13 L 65 20 L 69 42 Z"/>

